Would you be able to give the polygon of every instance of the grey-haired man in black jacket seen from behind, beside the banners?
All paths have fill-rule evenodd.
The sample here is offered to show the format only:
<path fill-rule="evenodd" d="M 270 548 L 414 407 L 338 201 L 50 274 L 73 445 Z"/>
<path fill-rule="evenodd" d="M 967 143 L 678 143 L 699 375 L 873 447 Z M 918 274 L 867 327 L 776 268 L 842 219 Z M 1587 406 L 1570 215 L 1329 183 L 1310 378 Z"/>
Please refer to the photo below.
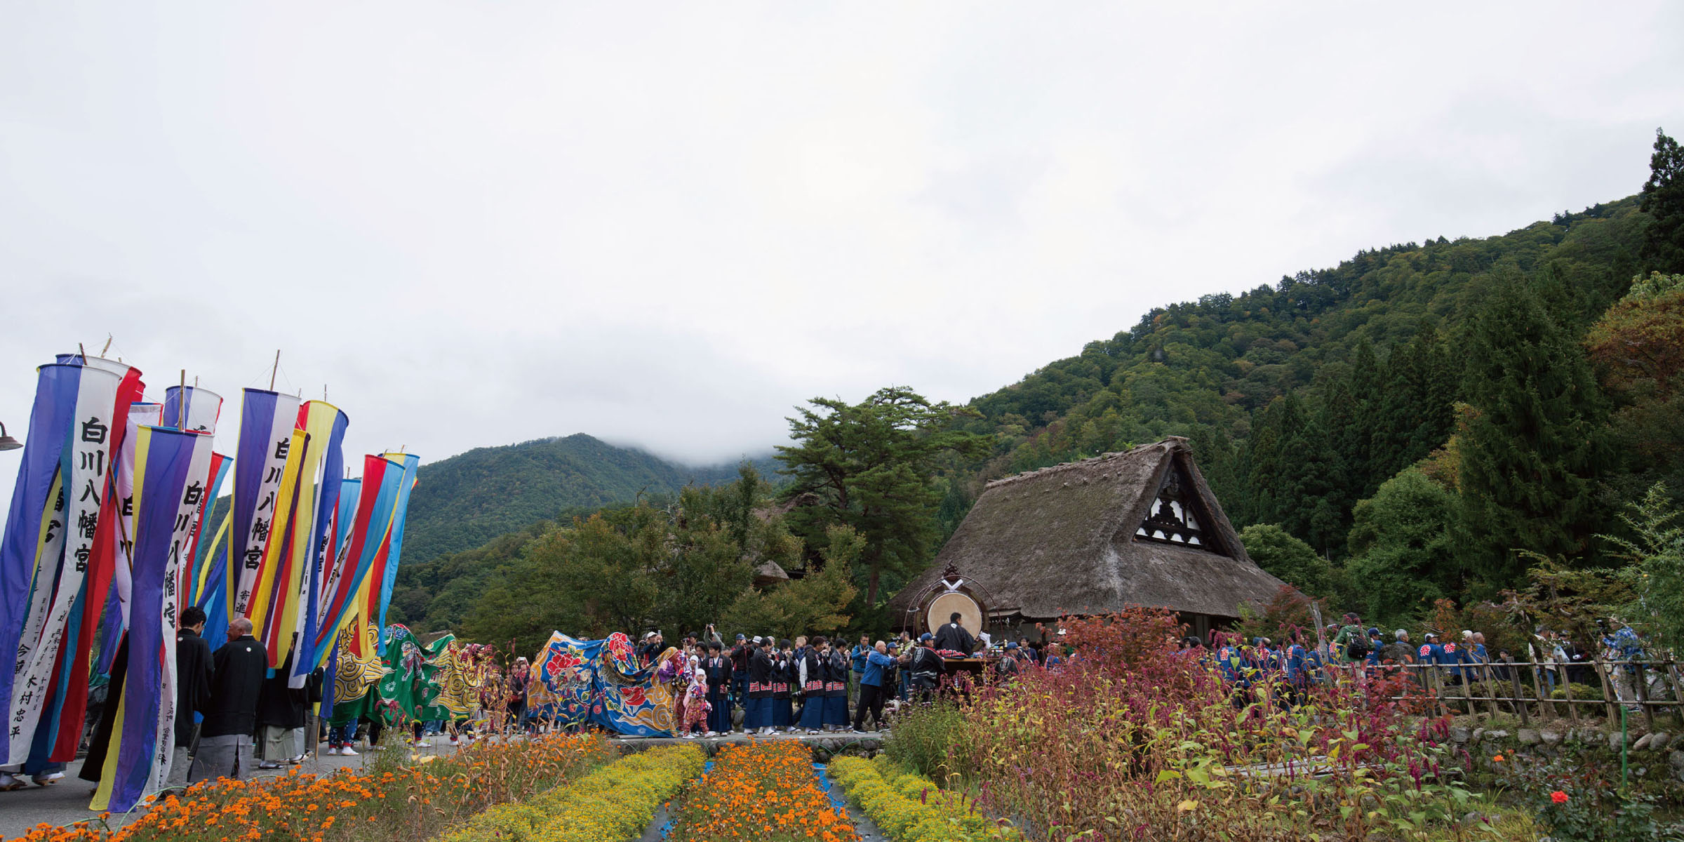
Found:
<path fill-rule="evenodd" d="M 269 653 L 251 637 L 251 620 L 227 625 L 227 643 L 210 657 L 210 704 L 199 727 L 199 754 L 187 780 L 239 778 L 251 771 L 251 734 Z"/>

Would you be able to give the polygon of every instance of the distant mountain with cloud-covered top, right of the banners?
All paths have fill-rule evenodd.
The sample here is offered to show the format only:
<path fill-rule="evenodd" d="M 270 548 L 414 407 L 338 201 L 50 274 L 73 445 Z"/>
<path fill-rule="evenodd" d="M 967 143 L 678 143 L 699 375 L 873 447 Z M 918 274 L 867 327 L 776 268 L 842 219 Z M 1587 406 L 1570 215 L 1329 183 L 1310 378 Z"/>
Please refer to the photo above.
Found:
<path fill-rule="evenodd" d="M 765 475 L 776 470 L 770 455 L 749 461 Z M 632 502 L 638 492 L 672 493 L 736 475 L 734 461 L 679 465 L 584 433 L 473 448 L 421 466 L 404 525 L 404 562 L 473 549 L 569 510 Z"/>

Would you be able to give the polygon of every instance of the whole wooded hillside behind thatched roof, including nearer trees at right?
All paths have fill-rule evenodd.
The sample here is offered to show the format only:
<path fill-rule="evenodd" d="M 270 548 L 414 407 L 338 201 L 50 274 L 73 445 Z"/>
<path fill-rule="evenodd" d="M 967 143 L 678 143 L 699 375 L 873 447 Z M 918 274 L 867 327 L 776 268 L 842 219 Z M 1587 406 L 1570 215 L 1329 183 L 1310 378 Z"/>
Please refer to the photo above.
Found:
<path fill-rule="evenodd" d="M 1376 620 L 1517 588 L 1526 554 L 1612 564 L 1596 536 L 1628 534 L 1627 505 L 1684 493 L 1684 155 L 1659 131 L 1650 170 L 1637 197 L 1499 237 L 1152 310 L 975 399 L 994 455 L 951 482 L 973 498 L 1187 436 L 1248 547 L 1302 544 L 1322 581 L 1295 584 Z"/>

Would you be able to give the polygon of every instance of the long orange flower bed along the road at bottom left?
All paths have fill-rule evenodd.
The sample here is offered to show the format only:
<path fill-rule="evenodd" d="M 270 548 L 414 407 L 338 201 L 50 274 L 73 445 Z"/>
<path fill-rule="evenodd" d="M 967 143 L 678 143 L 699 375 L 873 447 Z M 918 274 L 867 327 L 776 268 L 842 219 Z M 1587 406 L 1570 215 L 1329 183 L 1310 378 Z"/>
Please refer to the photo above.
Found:
<path fill-rule="evenodd" d="M 394 739 L 396 743 L 396 739 Z M 428 839 L 482 810 L 552 790 L 606 763 L 600 736 L 475 744 L 448 756 L 387 748 L 362 775 L 219 780 L 167 797 L 118 830 L 37 827 L 25 842 L 352 842 Z"/>

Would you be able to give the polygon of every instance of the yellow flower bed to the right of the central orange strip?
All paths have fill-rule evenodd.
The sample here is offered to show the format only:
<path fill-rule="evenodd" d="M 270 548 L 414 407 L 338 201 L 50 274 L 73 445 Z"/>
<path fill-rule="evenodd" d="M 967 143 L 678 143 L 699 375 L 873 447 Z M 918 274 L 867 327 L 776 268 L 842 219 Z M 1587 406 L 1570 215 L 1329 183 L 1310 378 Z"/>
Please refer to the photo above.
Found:
<path fill-rule="evenodd" d="M 903 771 L 886 754 L 876 761 L 837 758 L 830 761 L 830 776 L 879 830 L 899 842 L 1022 839 L 1017 829 L 977 810 L 970 798 L 940 790 L 930 778 Z"/>

